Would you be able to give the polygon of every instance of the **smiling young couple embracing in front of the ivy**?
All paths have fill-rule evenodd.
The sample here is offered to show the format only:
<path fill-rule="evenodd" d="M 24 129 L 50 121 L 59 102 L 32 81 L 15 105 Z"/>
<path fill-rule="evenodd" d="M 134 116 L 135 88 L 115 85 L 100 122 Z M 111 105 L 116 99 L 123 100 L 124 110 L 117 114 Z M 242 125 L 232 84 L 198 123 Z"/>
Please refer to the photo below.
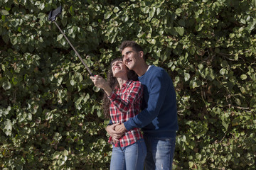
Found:
<path fill-rule="evenodd" d="M 171 77 L 147 65 L 136 42 L 124 41 L 119 48 L 122 59 L 111 63 L 108 80 L 90 77 L 105 91 L 104 111 L 111 118 L 110 169 L 172 169 L 178 119 Z"/>

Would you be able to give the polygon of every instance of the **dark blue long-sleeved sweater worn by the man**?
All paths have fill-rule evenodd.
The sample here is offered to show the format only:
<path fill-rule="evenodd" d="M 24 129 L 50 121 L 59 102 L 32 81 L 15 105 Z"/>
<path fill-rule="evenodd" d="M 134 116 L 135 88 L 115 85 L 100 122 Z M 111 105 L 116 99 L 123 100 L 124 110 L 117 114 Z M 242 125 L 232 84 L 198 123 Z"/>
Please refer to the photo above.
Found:
<path fill-rule="evenodd" d="M 142 128 L 151 137 L 175 137 L 178 118 L 171 77 L 161 67 L 152 65 L 139 81 L 144 85 L 142 112 L 125 122 L 125 128 Z"/>

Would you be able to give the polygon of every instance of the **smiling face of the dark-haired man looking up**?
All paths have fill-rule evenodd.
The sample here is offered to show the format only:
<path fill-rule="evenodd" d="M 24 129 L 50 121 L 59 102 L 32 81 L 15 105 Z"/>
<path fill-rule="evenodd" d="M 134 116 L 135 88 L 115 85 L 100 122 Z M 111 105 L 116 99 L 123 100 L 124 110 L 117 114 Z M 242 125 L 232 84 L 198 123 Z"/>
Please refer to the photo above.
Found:
<path fill-rule="evenodd" d="M 122 59 L 124 64 L 129 69 L 136 69 L 139 60 L 141 60 L 142 54 L 140 52 L 136 52 L 132 49 L 132 47 L 126 47 L 124 50 L 122 50 Z"/>

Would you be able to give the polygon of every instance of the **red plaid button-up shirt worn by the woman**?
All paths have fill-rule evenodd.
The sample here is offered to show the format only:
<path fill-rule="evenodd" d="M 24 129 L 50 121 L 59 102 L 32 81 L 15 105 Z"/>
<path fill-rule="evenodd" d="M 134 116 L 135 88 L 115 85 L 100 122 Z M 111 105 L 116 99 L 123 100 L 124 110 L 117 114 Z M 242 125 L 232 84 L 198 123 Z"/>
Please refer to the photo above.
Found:
<path fill-rule="evenodd" d="M 124 123 L 129 118 L 139 114 L 142 105 L 142 91 L 143 86 L 139 81 L 128 80 L 121 89 L 117 89 L 116 93 L 112 92 L 109 96 L 112 123 Z M 142 138 L 142 132 L 139 128 L 134 128 L 124 132 L 124 135 L 119 138 L 119 143 L 114 144 L 112 137 L 110 137 L 109 142 L 114 147 L 126 147 Z"/>

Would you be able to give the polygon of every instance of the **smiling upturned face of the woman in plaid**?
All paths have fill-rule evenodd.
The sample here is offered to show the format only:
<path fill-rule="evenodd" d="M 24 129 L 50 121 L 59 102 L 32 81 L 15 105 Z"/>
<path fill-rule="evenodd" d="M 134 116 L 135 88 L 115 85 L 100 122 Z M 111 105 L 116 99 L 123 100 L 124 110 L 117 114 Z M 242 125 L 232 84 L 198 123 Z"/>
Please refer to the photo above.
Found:
<path fill-rule="evenodd" d="M 117 60 L 112 63 L 111 66 L 113 77 L 127 76 L 128 68 L 125 66 L 122 60 Z"/>

